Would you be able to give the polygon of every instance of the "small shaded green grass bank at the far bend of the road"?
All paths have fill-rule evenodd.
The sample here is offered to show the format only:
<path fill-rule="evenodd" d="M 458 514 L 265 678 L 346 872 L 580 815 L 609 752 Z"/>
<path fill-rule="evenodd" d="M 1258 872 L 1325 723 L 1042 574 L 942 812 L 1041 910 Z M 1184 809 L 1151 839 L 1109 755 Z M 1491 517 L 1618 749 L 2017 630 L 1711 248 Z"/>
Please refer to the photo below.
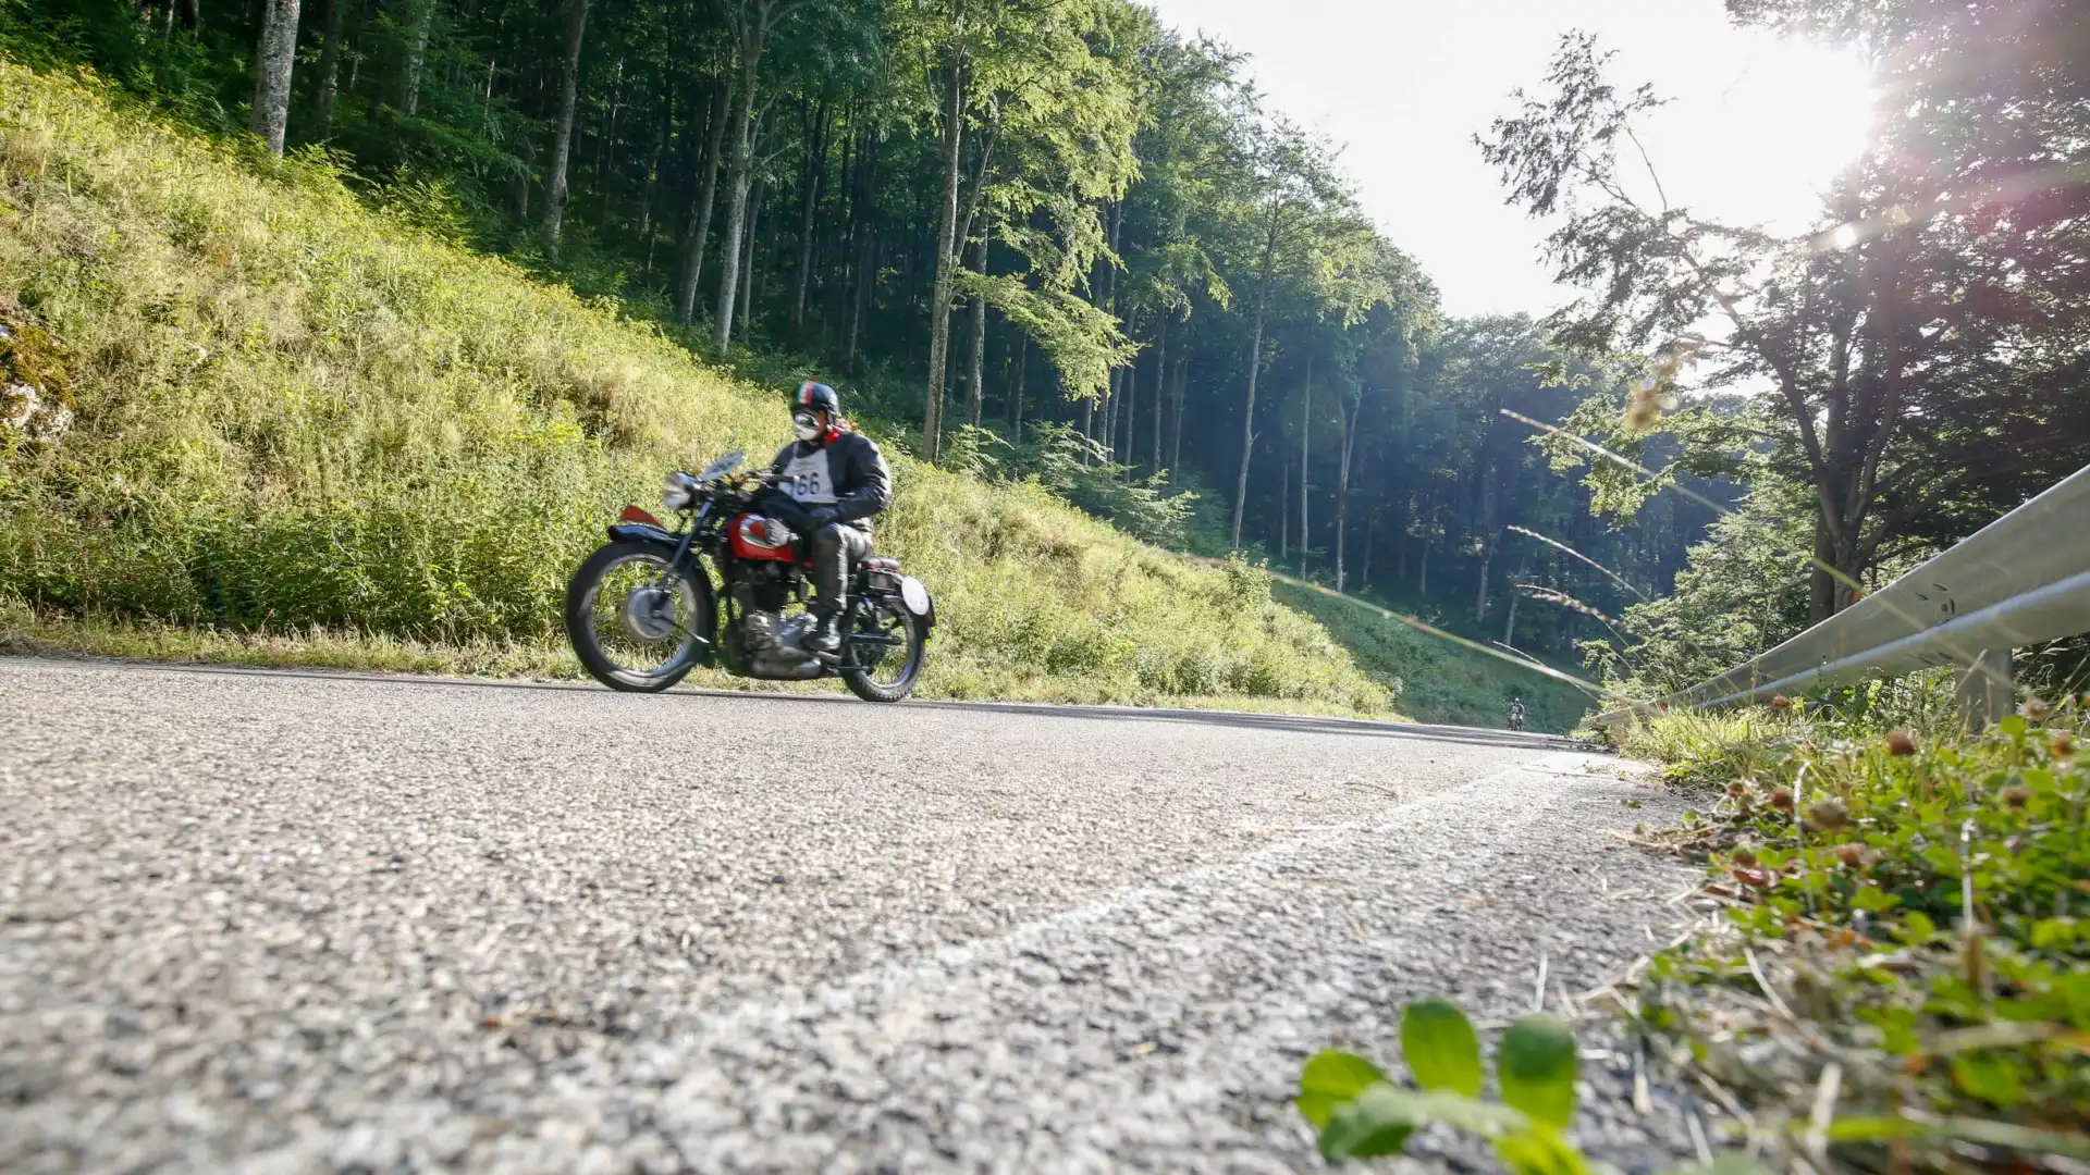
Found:
<path fill-rule="evenodd" d="M 1505 659 L 1461 648 L 1319 592 L 1279 583 L 1277 600 L 1321 621 L 1373 682 L 1417 721 L 1505 725 L 1509 698 L 1524 696 L 1526 730 L 1570 732 L 1593 698 Z M 1503 656 L 1509 656 L 1507 652 Z"/>

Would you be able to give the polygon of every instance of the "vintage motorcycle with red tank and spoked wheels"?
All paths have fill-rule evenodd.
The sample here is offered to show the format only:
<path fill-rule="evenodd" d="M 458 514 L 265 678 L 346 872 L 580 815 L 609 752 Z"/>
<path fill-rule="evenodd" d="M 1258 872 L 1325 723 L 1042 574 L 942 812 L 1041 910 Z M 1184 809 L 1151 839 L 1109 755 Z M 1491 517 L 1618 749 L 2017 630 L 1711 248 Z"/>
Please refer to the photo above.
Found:
<path fill-rule="evenodd" d="M 805 542 L 780 473 L 742 470 L 732 452 L 702 473 L 671 473 L 663 504 L 675 527 L 625 506 L 610 542 L 566 585 L 566 638 L 591 677 L 612 690 L 658 692 L 698 665 L 740 677 L 807 682 L 838 675 L 867 702 L 905 698 L 922 675 L 936 604 L 897 558 L 867 556 L 849 573 L 838 652 L 803 646 Z M 790 615 L 786 615 L 790 613 Z"/>

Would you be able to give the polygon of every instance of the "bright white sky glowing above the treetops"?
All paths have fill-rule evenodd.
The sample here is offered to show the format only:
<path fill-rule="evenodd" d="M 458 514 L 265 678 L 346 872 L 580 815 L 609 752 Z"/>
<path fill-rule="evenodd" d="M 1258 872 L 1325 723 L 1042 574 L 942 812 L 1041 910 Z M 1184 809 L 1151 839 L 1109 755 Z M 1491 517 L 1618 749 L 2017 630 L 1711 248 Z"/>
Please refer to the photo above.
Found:
<path fill-rule="evenodd" d="M 1864 142 L 1856 59 L 1728 25 L 1720 0 L 1147 0 L 1183 33 L 1248 52 L 1294 121 L 1346 144 L 1344 171 L 1448 314 L 1540 316 L 1574 297 L 1538 253 L 1547 228 L 1503 205 L 1473 134 L 1536 88 L 1563 31 L 1618 50 L 1613 82 L 1670 105 L 1643 142 L 1672 205 L 1802 230 Z"/>

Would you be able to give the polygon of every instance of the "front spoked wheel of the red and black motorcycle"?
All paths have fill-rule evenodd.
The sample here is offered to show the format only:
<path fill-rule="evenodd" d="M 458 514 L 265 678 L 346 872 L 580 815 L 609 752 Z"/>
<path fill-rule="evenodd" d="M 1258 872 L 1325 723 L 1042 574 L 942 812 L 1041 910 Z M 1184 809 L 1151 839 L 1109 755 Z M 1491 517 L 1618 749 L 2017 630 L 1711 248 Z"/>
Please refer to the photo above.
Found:
<path fill-rule="evenodd" d="M 671 571 L 652 544 L 617 542 L 587 556 L 566 585 L 566 638 L 581 665 L 612 690 L 650 694 L 681 682 L 711 638 L 692 573 L 694 562 Z"/>

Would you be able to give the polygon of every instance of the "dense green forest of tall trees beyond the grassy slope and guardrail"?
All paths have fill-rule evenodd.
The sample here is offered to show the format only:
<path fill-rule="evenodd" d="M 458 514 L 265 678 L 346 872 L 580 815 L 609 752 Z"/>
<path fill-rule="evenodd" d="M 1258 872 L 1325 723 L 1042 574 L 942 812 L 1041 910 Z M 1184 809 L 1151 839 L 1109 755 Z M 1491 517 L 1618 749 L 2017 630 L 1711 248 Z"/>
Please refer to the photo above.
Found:
<path fill-rule="evenodd" d="M 1476 140 L 1584 291 L 1536 322 L 1446 316 L 1340 144 L 1127 0 L 6 0 L 4 40 L 920 458 L 1659 686 L 2090 456 L 2084 19 L 1933 8 L 1728 2 L 1908 98 L 1797 238 L 1649 201 L 1659 98 L 1565 36 Z"/>

